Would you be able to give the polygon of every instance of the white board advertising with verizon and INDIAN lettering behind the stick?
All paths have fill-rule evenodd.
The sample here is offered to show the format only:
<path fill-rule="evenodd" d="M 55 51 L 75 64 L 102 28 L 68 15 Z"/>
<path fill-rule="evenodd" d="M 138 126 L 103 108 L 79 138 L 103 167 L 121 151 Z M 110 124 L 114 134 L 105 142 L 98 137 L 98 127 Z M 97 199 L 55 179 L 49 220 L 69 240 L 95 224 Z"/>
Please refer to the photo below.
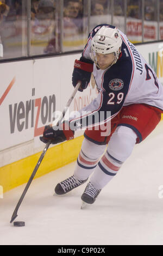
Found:
<path fill-rule="evenodd" d="M 77 57 L 77 56 L 75 56 Z M 74 56 L 54 57 L 1 64 L 0 150 L 30 141 L 42 143 L 45 125 L 52 124 L 54 113 L 62 112 L 73 92 L 71 76 Z M 89 87 L 78 92 L 70 111 L 88 105 L 97 95 Z"/>

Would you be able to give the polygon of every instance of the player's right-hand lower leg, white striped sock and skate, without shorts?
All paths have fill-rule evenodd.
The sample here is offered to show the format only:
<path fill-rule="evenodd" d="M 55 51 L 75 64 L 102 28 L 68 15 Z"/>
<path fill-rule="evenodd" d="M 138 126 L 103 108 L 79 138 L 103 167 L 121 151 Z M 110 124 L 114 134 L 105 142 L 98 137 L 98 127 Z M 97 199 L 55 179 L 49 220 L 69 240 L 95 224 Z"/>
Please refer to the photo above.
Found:
<path fill-rule="evenodd" d="M 118 126 L 112 134 L 108 148 L 98 162 L 82 200 L 92 204 L 102 188 L 114 178 L 124 161 L 128 159 L 136 143 L 136 133 L 125 126 Z"/>

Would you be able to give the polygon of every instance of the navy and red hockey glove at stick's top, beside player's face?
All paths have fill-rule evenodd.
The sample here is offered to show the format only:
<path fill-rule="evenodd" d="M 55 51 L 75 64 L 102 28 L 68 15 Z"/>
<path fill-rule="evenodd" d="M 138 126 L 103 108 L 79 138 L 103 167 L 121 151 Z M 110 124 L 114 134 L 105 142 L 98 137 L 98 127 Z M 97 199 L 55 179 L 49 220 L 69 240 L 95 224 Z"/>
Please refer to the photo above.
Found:
<path fill-rule="evenodd" d="M 87 88 L 90 79 L 91 72 L 93 71 L 93 62 L 90 59 L 86 59 L 81 57 L 80 60 L 75 60 L 74 62 L 74 70 L 72 73 L 72 84 L 76 87 L 79 81 L 82 82 L 80 88 L 78 89 L 80 92 L 83 92 L 84 89 Z"/>

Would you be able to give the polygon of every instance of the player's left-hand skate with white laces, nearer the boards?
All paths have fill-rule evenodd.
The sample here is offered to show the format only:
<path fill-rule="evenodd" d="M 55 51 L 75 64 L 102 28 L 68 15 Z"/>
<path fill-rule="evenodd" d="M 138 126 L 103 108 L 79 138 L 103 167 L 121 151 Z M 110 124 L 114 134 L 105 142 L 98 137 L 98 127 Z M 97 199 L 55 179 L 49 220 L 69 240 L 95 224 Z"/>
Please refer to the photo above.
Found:
<path fill-rule="evenodd" d="M 55 187 L 55 193 L 56 194 L 66 194 L 73 190 L 74 188 L 84 184 L 86 180 L 78 180 L 77 178 L 72 175 L 71 177 L 67 178 L 66 180 L 61 181 L 57 184 Z"/>

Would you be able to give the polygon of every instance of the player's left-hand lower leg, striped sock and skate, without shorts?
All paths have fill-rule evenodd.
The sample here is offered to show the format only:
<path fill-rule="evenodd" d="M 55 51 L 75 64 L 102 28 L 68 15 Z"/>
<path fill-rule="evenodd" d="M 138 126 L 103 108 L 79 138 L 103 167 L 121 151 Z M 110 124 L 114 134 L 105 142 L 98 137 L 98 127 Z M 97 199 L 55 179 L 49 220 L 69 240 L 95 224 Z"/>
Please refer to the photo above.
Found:
<path fill-rule="evenodd" d="M 97 166 L 99 157 L 104 153 L 105 148 L 106 145 L 98 145 L 84 138 L 74 174 L 57 184 L 55 193 L 65 194 L 86 182 Z"/>

